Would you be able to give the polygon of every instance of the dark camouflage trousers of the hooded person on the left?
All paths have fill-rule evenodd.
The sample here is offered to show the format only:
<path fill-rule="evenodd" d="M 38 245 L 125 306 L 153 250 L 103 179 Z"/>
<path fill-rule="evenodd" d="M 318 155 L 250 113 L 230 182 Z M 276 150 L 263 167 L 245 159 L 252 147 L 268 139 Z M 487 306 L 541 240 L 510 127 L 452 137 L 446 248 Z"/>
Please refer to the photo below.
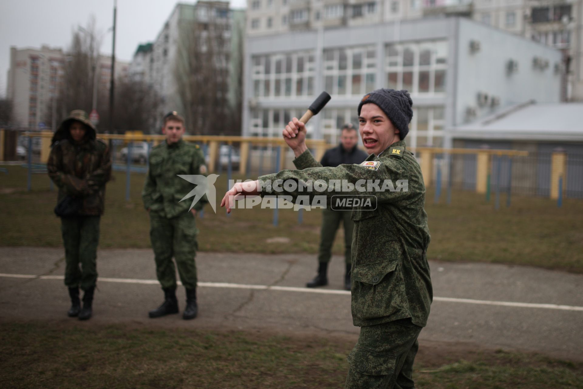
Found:
<path fill-rule="evenodd" d="M 65 246 L 65 285 L 69 288 L 80 286 L 87 290 L 95 287 L 100 219 L 101 216 L 61 218 Z"/>

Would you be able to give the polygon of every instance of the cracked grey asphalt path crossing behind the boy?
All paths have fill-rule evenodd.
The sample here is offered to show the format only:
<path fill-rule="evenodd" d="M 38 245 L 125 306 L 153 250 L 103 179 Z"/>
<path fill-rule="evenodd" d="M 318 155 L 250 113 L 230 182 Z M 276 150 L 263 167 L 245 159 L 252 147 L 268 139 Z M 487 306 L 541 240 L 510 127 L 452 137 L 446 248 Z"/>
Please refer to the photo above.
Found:
<path fill-rule="evenodd" d="M 7 275 L 60 276 L 64 274 L 62 248 L 0 248 L 0 273 Z M 304 288 L 315 275 L 315 255 L 198 253 L 199 282 Z M 583 275 L 530 267 L 493 264 L 430 262 L 434 296 L 454 299 L 560 304 L 583 307 Z M 306 293 L 302 290 L 262 290 L 201 286 L 199 317 L 180 315 L 150 319 L 163 293 L 156 280 L 151 250 L 100 250 L 94 317 L 79 325 L 121 323 L 168 328 L 192 327 L 271 331 L 282 334 L 321 334 L 351 337 L 350 296 Z M 342 289 L 344 264 L 334 257 L 330 285 Z M 216 285 L 211 285 L 216 286 Z M 184 307 L 184 289 L 178 290 Z M 66 317 L 68 295 L 62 279 L 0 276 L 0 321 L 71 321 Z M 450 342 L 476 348 L 535 351 L 549 356 L 583 360 L 583 310 L 543 309 L 468 304 L 437 300 L 429 323 L 421 332 L 423 342 Z"/>

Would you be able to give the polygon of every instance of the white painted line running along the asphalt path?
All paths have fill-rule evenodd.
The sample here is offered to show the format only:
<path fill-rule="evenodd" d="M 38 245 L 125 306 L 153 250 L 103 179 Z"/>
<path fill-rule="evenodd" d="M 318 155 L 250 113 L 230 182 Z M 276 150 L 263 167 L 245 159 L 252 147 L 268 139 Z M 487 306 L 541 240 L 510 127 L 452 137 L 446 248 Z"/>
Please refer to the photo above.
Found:
<path fill-rule="evenodd" d="M 38 278 L 38 279 L 64 279 L 62 275 L 30 275 L 30 274 L 5 274 L 0 273 L 0 277 L 7 278 Z M 100 277 L 101 282 L 118 282 L 118 283 L 138 283 L 142 285 L 158 285 L 155 279 L 134 279 L 134 278 L 104 278 Z M 178 285 L 182 285 L 178 281 Z M 228 282 L 199 282 L 198 286 L 205 288 L 229 288 L 229 289 L 254 289 L 254 290 L 280 290 L 282 292 L 301 292 L 301 293 L 320 293 L 323 295 L 350 295 L 349 290 L 337 289 L 311 289 L 311 288 L 296 288 L 294 286 L 269 286 L 269 285 L 252 285 L 243 283 L 228 283 Z M 447 303 L 463 303 L 463 304 L 480 304 L 493 305 L 501 307 L 519 307 L 519 308 L 540 308 L 540 309 L 555 309 L 563 311 L 583 311 L 583 307 L 558 305 L 558 304 L 536 304 L 536 303 L 515 303 L 504 301 L 490 301 L 490 300 L 472 300 L 472 299 L 456 299 L 454 297 L 433 297 L 433 301 L 447 302 Z"/>

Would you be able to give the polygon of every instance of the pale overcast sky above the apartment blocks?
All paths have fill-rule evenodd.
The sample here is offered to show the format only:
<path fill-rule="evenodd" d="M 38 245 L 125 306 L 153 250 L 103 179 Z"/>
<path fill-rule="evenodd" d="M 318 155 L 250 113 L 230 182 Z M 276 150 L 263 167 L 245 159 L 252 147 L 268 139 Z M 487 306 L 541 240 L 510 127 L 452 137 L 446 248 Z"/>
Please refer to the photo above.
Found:
<path fill-rule="evenodd" d="M 180 1 L 195 3 L 194 1 Z M 10 46 L 47 44 L 68 48 L 72 31 L 96 17 L 97 31 L 113 24 L 114 0 L 0 0 L 0 96 L 6 95 Z M 115 57 L 129 61 L 138 44 L 153 41 L 176 2 L 168 0 L 118 0 Z M 245 8 L 245 0 L 231 0 L 231 8 Z M 101 52 L 111 54 L 111 33 L 103 38 Z"/>

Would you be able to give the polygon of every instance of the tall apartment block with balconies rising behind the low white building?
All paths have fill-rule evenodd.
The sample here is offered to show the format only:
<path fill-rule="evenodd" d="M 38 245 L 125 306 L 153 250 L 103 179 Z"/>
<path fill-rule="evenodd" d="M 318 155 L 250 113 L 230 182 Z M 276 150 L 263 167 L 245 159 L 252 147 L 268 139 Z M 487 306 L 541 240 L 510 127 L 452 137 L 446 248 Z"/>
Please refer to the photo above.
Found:
<path fill-rule="evenodd" d="M 466 16 L 563 51 L 563 100 L 583 101 L 583 0 L 248 0 L 250 37 Z"/>

